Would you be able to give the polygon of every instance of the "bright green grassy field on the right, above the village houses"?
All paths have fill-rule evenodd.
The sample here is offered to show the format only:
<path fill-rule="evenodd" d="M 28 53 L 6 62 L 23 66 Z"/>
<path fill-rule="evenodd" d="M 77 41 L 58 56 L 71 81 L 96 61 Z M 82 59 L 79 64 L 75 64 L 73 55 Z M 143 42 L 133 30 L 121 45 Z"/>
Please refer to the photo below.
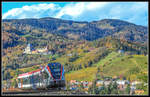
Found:
<path fill-rule="evenodd" d="M 148 72 L 148 57 L 143 55 L 119 55 L 110 53 L 106 58 L 100 60 L 96 66 L 103 68 L 104 76 L 125 76 L 131 80 L 138 80 L 139 76 Z"/>

